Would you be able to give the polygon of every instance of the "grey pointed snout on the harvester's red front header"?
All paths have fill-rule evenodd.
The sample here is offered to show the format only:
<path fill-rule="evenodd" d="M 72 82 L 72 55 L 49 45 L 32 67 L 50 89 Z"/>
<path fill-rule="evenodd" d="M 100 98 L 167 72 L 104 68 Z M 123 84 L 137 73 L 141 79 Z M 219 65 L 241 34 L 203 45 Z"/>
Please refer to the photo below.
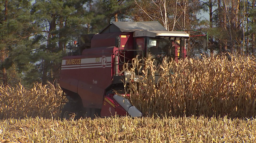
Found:
<path fill-rule="evenodd" d="M 142 113 L 133 106 L 130 101 L 122 96 L 114 95 L 113 98 L 126 110 L 132 117 L 142 117 Z"/>

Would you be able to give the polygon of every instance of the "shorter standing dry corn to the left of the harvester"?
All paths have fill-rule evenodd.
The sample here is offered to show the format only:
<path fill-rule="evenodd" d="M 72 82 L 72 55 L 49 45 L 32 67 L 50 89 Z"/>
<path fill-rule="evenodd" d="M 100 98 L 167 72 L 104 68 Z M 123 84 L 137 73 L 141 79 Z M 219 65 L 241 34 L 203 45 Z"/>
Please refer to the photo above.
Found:
<path fill-rule="evenodd" d="M 61 89 L 48 83 L 34 83 L 33 88 L 25 89 L 22 85 L 16 87 L 0 86 L 0 119 L 59 116 Z"/>

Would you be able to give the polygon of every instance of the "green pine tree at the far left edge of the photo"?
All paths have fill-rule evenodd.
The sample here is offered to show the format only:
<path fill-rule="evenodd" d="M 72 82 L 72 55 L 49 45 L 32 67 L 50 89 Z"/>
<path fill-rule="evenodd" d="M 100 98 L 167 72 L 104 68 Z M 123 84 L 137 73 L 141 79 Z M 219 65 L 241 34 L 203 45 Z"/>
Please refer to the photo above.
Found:
<path fill-rule="evenodd" d="M 30 13 L 31 1 L 2 0 L 0 14 L 0 79 L 8 83 L 20 81 L 19 68 L 25 68 L 30 62 L 27 54 L 33 48 L 30 37 L 37 33 Z"/>

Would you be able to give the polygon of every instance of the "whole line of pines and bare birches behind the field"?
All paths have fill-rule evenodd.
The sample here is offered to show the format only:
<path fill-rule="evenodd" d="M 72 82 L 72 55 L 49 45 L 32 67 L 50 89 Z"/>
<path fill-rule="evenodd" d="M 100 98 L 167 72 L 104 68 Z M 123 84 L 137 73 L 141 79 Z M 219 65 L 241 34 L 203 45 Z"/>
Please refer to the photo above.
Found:
<path fill-rule="evenodd" d="M 98 33 L 117 20 L 159 21 L 169 31 L 186 30 L 192 36 L 186 45 L 191 57 L 227 51 L 255 56 L 255 0 L 0 2 L 0 82 L 5 85 L 57 83 L 61 58 L 72 44 L 69 35 Z M 202 19 L 202 13 L 210 19 Z"/>

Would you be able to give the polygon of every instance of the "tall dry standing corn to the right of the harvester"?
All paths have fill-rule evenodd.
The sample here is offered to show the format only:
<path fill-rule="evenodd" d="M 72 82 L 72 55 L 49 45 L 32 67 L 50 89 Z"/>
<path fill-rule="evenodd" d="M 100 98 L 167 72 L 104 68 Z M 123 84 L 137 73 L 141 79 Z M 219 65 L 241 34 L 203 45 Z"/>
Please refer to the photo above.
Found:
<path fill-rule="evenodd" d="M 255 117 L 256 60 L 253 57 L 163 60 L 159 69 L 153 61 L 134 60 L 124 70 L 138 82 L 130 82 L 130 100 L 145 115 L 205 115 Z M 159 74 L 159 79 L 155 77 Z M 154 83 L 157 80 L 157 84 Z M 139 90 L 138 90 L 139 89 Z"/>

